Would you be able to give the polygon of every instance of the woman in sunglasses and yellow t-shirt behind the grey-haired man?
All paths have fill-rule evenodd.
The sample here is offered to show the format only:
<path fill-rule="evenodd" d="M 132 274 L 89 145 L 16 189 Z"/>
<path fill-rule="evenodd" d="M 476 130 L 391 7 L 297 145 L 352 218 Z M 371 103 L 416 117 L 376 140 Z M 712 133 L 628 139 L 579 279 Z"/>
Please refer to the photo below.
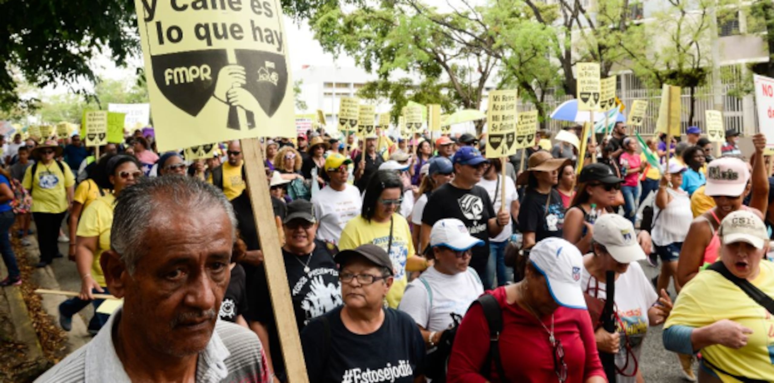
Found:
<path fill-rule="evenodd" d="M 142 178 L 140 166 L 140 162 L 133 156 L 108 155 L 100 159 L 98 169 L 104 169 L 104 172 L 98 172 L 96 181 L 104 189 L 112 190 L 112 193 L 106 193 L 94 200 L 80 216 L 75 249 L 75 264 L 80 275 L 80 295 L 59 306 L 59 323 L 63 330 L 70 331 L 72 317 L 90 302 L 95 310 L 99 307 L 103 299 L 94 299 L 94 293 L 109 293 L 99 263 L 100 255 L 110 249 L 115 199 L 122 190 Z M 94 316 L 96 320 L 90 323 L 90 331 L 99 331 L 110 317 L 100 313 L 95 313 Z"/>

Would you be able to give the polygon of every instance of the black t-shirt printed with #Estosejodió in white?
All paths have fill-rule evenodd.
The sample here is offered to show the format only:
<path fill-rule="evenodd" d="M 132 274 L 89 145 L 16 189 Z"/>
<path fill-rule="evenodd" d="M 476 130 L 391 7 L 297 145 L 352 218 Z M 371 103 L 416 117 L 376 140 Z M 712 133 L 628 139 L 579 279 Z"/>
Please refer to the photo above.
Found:
<path fill-rule="evenodd" d="M 385 308 L 374 333 L 352 333 L 341 321 L 341 306 L 313 320 L 301 332 L 310 383 L 368 381 L 412 383 L 424 374 L 425 342 L 419 327 L 401 311 Z"/>

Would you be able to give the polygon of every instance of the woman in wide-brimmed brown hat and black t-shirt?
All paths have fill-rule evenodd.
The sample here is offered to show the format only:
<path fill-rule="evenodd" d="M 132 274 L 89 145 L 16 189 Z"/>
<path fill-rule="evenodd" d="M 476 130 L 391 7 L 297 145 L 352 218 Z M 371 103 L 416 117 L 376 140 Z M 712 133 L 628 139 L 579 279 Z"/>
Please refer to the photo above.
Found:
<path fill-rule="evenodd" d="M 541 151 L 529 156 L 528 162 L 529 167 L 516 179 L 517 184 L 527 186 L 519 209 L 522 248 L 531 248 L 544 238 L 562 236 L 565 209 L 553 186 L 559 183 L 559 169 L 570 159 L 555 159 L 551 153 Z"/>

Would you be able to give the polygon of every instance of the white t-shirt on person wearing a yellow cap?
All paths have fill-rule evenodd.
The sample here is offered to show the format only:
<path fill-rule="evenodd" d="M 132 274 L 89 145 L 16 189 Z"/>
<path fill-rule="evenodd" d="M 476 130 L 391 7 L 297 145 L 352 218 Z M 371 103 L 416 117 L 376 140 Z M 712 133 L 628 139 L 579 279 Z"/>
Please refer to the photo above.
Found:
<path fill-rule="evenodd" d="M 363 205 L 358 188 L 348 183 L 341 191 L 325 186 L 314 194 L 312 204 L 314 217 L 320 223 L 317 227 L 317 239 L 335 244 L 338 244 L 344 226 L 360 214 Z"/>

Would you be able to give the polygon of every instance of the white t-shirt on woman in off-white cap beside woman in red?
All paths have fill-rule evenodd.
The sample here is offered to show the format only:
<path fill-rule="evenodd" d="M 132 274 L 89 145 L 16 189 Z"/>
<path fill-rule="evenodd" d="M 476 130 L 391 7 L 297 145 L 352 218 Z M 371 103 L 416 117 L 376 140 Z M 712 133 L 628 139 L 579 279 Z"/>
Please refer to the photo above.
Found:
<path fill-rule="evenodd" d="M 580 286 L 584 292 L 591 296 L 600 299 L 604 299 L 607 296 L 604 281 L 597 281 L 588 273 L 586 268 L 583 270 Z M 640 352 L 642 351 L 642 340 L 645 340 L 645 336 L 648 333 L 648 309 L 658 299 L 659 296 L 656 295 L 656 290 L 653 289 L 648 277 L 645 276 L 645 272 L 642 272 L 642 267 L 640 267 L 638 262 L 630 263 L 628 270 L 619 275 L 618 279 L 615 280 L 615 306 L 618 310 L 618 317 L 621 319 L 621 322 L 616 325 L 618 333 L 621 333 L 621 348 L 618 354 L 615 355 L 615 365 L 618 368 L 624 368 L 626 365 L 627 347 L 625 347 L 625 338 L 628 338 L 634 357 L 637 358 L 639 364 L 642 364 Z M 625 328 L 621 328 L 621 323 L 624 324 Z M 624 336 L 624 333 L 626 336 Z M 626 366 L 625 372 L 632 374 L 634 366 L 635 363 L 632 360 L 632 355 L 628 355 L 628 366 Z M 636 378 L 618 374 L 615 381 L 618 383 L 635 383 Z"/>

